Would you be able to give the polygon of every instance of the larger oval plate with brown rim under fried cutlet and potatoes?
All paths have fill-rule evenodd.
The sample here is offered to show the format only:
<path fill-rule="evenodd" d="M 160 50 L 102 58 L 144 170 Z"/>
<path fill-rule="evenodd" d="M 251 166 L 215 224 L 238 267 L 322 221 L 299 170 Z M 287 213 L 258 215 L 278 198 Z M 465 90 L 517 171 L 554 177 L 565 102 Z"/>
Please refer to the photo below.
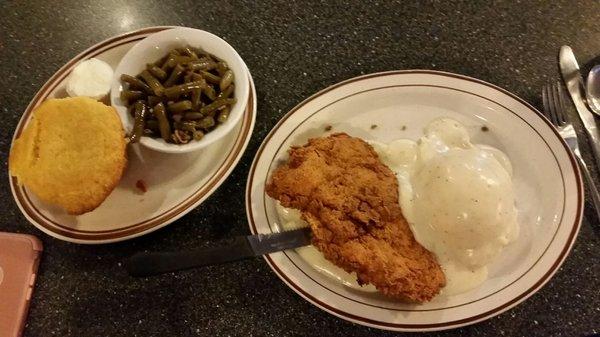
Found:
<path fill-rule="evenodd" d="M 515 95 L 473 78 L 435 71 L 393 71 L 350 79 L 296 106 L 258 150 L 246 209 L 253 234 L 280 230 L 265 182 L 291 145 L 331 132 L 389 142 L 417 139 L 434 118 L 465 124 L 474 142 L 500 148 L 514 166 L 521 235 L 470 292 L 408 305 L 353 290 L 323 276 L 295 251 L 266 256 L 275 273 L 321 309 L 346 320 L 397 331 L 443 330 L 479 322 L 525 300 L 556 272 L 579 230 L 583 185 L 555 129 Z M 325 131 L 330 125 L 331 131 Z M 372 125 L 377 125 L 371 129 Z M 484 131 L 483 126 L 489 130 Z"/>

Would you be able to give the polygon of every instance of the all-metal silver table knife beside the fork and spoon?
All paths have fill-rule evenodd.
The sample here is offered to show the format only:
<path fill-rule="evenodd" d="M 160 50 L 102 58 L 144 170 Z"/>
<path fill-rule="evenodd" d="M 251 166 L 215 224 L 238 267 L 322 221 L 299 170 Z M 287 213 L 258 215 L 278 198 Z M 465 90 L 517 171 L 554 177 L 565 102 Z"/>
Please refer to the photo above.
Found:
<path fill-rule="evenodd" d="M 600 139 L 598 138 L 598 127 L 594 114 L 585 105 L 585 95 L 583 78 L 579 71 L 579 64 L 573 53 L 573 49 L 569 46 L 562 46 L 558 55 L 558 63 L 560 65 L 560 72 L 562 74 L 565 86 L 569 91 L 571 100 L 575 104 L 579 118 L 583 122 L 586 134 L 592 146 L 592 152 L 594 159 L 596 160 L 597 167 L 600 168 Z"/>

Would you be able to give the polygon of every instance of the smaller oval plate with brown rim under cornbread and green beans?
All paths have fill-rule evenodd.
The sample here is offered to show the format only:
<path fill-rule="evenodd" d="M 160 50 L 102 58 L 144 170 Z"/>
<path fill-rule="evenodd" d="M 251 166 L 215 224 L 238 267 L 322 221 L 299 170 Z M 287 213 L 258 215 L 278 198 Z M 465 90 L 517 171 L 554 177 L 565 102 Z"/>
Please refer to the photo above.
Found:
<path fill-rule="evenodd" d="M 17 138 L 31 112 L 48 98 L 66 97 L 66 78 L 73 67 L 98 58 L 113 69 L 123 55 L 146 36 L 173 27 L 149 27 L 102 41 L 77 55 L 59 69 L 35 95 L 15 134 Z M 206 200 L 229 176 L 240 160 L 254 129 L 256 91 L 251 92 L 244 116 L 235 128 L 211 146 L 192 153 L 168 154 L 139 145 L 128 147 L 128 167 L 115 190 L 97 209 L 71 216 L 40 201 L 10 177 L 13 197 L 21 212 L 36 227 L 58 239 L 77 243 L 109 243 L 134 238 L 164 227 Z M 148 191 L 141 193 L 136 182 Z"/>

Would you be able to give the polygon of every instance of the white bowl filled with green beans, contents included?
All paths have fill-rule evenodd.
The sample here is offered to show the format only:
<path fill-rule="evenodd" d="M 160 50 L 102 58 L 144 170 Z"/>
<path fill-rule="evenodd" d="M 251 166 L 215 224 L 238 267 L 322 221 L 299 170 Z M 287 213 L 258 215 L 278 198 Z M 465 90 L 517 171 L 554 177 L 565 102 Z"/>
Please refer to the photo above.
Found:
<path fill-rule="evenodd" d="M 223 39 L 178 27 L 131 48 L 115 69 L 111 105 L 130 143 L 185 153 L 230 133 L 250 91 L 248 71 Z"/>

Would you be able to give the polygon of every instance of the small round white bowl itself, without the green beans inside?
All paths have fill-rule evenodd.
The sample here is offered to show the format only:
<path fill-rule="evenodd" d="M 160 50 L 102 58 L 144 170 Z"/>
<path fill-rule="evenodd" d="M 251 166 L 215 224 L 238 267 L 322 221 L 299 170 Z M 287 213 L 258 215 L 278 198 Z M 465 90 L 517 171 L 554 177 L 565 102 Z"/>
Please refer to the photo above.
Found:
<path fill-rule="evenodd" d="M 129 132 L 133 128 L 133 118 L 127 113 L 127 107 L 123 105 L 119 98 L 121 90 L 123 90 L 120 76 L 122 74 L 136 76 L 146 68 L 147 63 L 155 62 L 174 48 L 187 45 L 201 48 L 227 62 L 235 76 L 234 97 L 237 102 L 232 106 L 227 121 L 207 133 L 199 141 L 192 140 L 187 144 L 171 144 L 161 138 L 142 137 L 140 139 L 140 144 L 156 151 L 184 153 L 204 148 L 229 133 L 246 109 L 250 91 L 248 71 L 244 61 L 235 49 L 220 37 L 209 32 L 185 27 L 173 28 L 152 34 L 140 41 L 123 56 L 115 69 L 110 90 L 110 102 L 117 109 L 125 131 Z"/>

